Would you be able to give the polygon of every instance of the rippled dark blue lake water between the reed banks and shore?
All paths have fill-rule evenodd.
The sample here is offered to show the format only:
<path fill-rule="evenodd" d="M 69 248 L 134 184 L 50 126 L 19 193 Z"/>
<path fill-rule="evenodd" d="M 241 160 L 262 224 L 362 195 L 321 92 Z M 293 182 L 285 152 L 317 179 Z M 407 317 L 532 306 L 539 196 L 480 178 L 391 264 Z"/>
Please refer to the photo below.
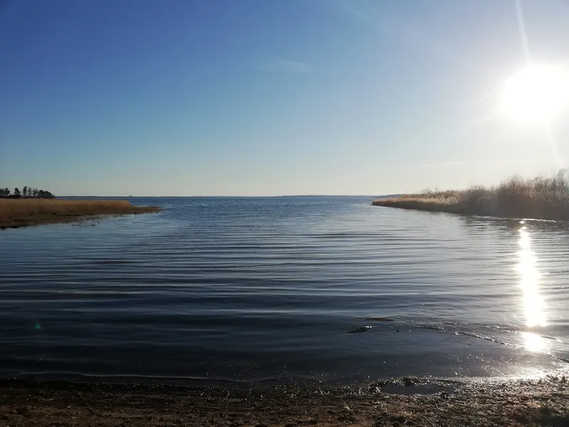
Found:
<path fill-rule="evenodd" d="M 164 211 L 0 232 L 0 375 L 334 381 L 567 367 L 569 223 L 369 197 L 132 200 Z"/>

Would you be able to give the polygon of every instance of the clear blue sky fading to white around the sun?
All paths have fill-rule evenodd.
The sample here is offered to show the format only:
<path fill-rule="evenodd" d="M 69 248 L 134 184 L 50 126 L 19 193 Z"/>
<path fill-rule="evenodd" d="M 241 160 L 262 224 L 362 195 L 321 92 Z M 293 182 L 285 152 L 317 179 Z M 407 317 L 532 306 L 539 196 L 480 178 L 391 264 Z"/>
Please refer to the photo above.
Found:
<path fill-rule="evenodd" d="M 0 0 L 0 185 L 376 195 L 553 172 L 568 111 L 544 127 L 499 95 L 528 60 L 567 64 L 569 2 L 520 6 Z"/>

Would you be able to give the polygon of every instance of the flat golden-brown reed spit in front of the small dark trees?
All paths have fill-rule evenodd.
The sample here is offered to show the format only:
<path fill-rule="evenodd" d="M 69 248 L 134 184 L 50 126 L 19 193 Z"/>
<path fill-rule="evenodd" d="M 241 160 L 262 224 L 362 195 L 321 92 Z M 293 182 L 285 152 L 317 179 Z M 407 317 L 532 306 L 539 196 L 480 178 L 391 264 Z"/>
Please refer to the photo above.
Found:
<path fill-rule="evenodd" d="M 158 210 L 156 206 L 132 206 L 124 200 L 0 199 L 0 229 Z"/>

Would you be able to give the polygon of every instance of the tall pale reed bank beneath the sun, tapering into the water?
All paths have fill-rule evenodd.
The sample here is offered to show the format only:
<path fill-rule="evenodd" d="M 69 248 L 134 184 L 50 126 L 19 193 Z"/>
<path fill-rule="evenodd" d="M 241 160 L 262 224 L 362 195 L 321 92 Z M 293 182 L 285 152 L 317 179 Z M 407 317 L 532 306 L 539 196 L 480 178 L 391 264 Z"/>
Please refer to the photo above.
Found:
<path fill-rule="evenodd" d="M 372 204 L 419 211 L 569 221 L 569 177 L 566 171 L 533 179 L 513 176 L 498 186 L 423 191 L 374 200 Z"/>

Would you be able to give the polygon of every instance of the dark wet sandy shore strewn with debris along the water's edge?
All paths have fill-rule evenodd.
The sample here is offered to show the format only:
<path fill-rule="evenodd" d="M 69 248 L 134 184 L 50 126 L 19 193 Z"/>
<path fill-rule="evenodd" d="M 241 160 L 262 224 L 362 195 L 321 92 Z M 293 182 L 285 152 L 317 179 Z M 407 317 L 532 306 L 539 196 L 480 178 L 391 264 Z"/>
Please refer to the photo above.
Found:
<path fill-rule="evenodd" d="M 3 379 L 0 396 L 1 426 L 569 426 L 565 376 L 250 387 Z"/>

